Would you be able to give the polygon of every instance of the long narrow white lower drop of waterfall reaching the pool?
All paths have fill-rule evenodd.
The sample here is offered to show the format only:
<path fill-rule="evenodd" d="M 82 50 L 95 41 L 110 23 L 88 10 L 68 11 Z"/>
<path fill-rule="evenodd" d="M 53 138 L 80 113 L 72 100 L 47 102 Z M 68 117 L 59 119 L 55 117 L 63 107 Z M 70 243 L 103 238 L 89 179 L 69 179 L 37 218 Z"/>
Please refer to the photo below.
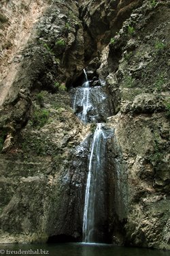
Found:
<path fill-rule="evenodd" d="M 92 139 L 90 161 L 88 165 L 88 178 L 86 184 L 86 195 L 84 203 L 83 219 L 83 241 L 94 242 L 95 228 L 95 193 L 97 186 L 97 175 L 101 167 L 101 147 L 103 146 L 104 132 L 102 124 L 97 124 L 94 137 Z"/>

